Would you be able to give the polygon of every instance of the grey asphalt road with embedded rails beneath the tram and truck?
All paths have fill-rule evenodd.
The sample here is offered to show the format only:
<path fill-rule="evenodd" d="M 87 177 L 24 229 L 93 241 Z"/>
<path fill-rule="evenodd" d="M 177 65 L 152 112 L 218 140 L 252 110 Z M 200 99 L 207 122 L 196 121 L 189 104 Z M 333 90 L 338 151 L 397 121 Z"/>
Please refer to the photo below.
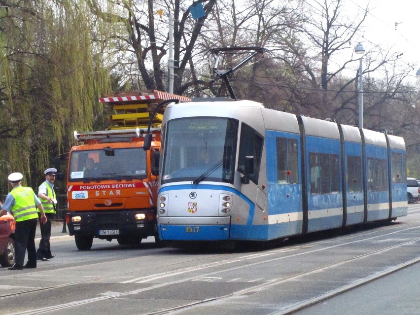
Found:
<path fill-rule="evenodd" d="M 0 269 L 0 313 L 416 314 L 420 206 L 409 209 L 390 224 L 265 250 L 159 248 L 149 238 L 139 246 L 94 240 L 78 251 L 56 224 L 55 258 Z"/>

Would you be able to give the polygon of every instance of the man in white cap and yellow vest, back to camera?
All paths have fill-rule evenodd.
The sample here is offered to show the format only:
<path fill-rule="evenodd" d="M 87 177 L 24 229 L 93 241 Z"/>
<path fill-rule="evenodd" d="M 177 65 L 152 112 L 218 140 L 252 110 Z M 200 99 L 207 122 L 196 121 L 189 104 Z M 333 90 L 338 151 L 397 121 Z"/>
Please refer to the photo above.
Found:
<path fill-rule="evenodd" d="M 47 221 L 44 208 L 31 187 L 22 186 L 23 175 L 12 173 L 8 180 L 12 190 L 7 194 L 6 200 L 0 210 L 0 216 L 11 212 L 16 221 L 15 229 L 15 265 L 9 270 L 22 270 L 23 268 L 36 268 L 35 232 L 39 220 Z M 24 266 L 25 251 L 28 250 L 28 262 Z"/>

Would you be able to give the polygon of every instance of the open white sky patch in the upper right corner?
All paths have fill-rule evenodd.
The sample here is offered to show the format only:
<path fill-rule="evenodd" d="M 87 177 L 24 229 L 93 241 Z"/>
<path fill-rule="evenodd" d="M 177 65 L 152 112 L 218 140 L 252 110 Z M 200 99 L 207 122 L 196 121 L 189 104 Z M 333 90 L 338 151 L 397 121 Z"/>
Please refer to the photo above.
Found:
<path fill-rule="evenodd" d="M 420 68 L 420 1 L 418 0 L 345 0 L 350 5 L 365 7 L 369 2 L 370 12 L 363 24 L 361 41 L 365 50 L 377 44 L 385 50 L 393 46 L 407 64 L 414 66 L 413 75 Z M 350 12 L 349 12 L 350 13 Z M 395 26 L 397 23 L 397 26 Z"/>

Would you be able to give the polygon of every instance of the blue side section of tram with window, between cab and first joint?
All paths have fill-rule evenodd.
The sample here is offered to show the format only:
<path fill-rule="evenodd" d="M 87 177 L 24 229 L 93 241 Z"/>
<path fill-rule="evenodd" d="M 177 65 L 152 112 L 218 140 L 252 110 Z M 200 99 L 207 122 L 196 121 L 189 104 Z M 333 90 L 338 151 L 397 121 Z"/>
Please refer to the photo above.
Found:
<path fill-rule="evenodd" d="M 269 239 L 302 233 L 300 138 L 266 132 Z"/>

